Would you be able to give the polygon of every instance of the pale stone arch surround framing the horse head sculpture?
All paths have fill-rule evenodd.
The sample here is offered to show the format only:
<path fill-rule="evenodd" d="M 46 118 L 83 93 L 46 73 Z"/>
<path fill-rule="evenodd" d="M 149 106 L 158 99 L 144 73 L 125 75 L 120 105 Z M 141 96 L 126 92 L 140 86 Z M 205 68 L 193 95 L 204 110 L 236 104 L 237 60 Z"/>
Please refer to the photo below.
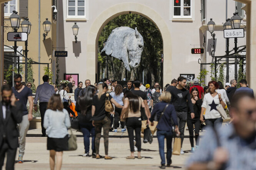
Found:
<path fill-rule="evenodd" d="M 163 18 L 153 9 L 140 4 L 140 3 L 120 3 L 114 5 L 103 11 L 93 22 L 90 31 L 88 33 L 87 39 L 87 51 L 86 51 L 86 70 L 95 70 L 97 63 L 97 48 L 98 48 L 98 38 L 104 26 L 111 21 L 113 18 L 131 13 L 142 15 L 149 20 L 151 20 L 160 30 L 163 38 L 163 84 L 166 84 L 171 79 L 171 34 L 168 26 L 166 25 Z M 92 82 L 95 82 L 95 71 L 86 72 L 86 77 L 88 77 Z M 93 81 L 94 80 L 94 81 Z M 170 82 L 169 82 L 170 83 Z"/>

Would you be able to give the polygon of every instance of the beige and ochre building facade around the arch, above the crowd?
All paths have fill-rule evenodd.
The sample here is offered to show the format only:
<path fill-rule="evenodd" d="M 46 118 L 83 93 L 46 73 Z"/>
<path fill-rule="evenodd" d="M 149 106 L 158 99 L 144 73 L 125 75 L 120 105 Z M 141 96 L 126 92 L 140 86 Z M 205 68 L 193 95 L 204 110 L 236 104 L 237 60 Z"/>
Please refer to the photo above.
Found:
<path fill-rule="evenodd" d="M 250 87 L 256 87 L 256 70 L 253 67 L 254 49 L 256 49 L 253 48 L 256 46 L 253 35 L 256 32 L 256 21 L 254 15 L 251 15 L 256 10 L 255 0 L 12 0 L 12 2 L 15 2 L 17 11 L 24 10 L 26 7 L 24 4 L 27 4 L 27 16 L 22 17 L 28 17 L 32 23 L 28 36 L 28 57 L 43 63 L 49 63 L 49 59 L 52 59 L 50 67 L 54 74 L 53 81 L 56 77 L 54 52 L 67 51 L 68 57 L 59 57 L 59 79 L 62 80 L 64 74 L 79 74 L 79 81 L 90 79 L 91 82 L 95 82 L 100 33 L 111 19 L 128 14 L 130 11 L 153 21 L 162 35 L 163 84 L 170 83 L 180 74 L 194 74 L 197 77 L 200 70 L 198 59 L 207 63 L 213 60 L 210 54 L 212 37 L 207 29 L 210 18 L 213 18 L 216 24 L 215 56 L 223 56 L 226 51 L 223 23 L 226 17 L 231 18 L 233 13 L 238 11 L 243 18 L 241 27 L 245 29 L 245 37 L 238 38 L 238 46 L 246 45 L 247 79 Z M 9 5 L 7 8 L 11 8 L 10 3 L 7 5 Z M 57 15 L 54 13 L 53 5 L 57 7 Z M 10 9 L 7 11 L 10 12 Z M 8 15 L 10 16 L 10 13 L 5 13 L 6 23 L 9 22 Z M 42 23 L 46 18 L 52 23 L 52 27 L 43 40 Z M 75 22 L 79 26 L 77 43 L 72 33 Z M 9 28 L 8 31 L 12 30 Z M 5 45 L 13 46 L 13 42 L 7 41 L 7 32 L 3 33 L 3 42 Z M 234 47 L 233 41 L 234 39 L 231 38 L 229 49 Z M 24 49 L 24 42 L 19 42 L 17 45 L 19 50 Z M 204 54 L 191 54 L 191 48 L 204 48 Z M 39 69 L 39 65 L 33 65 L 35 85 L 42 83 L 45 66 L 40 65 Z M 210 71 L 209 65 L 206 68 Z M 233 67 L 230 67 L 230 70 L 229 80 L 234 78 Z M 210 80 L 209 76 L 210 74 L 206 77 L 206 82 Z"/>

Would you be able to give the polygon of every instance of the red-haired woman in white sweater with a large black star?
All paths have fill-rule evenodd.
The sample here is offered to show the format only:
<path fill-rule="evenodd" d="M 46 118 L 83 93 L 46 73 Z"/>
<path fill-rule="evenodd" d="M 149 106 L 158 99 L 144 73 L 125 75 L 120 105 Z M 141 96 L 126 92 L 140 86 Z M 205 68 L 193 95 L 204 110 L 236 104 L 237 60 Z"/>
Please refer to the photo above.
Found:
<path fill-rule="evenodd" d="M 212 80 L 208 83 L 209 93 L 204 95 L 203 104 L 201 106 L 201 115 L 200 121 L 203 122 L 203 113 L 205 111 L 205 121 L 206 126 L 216 126 L 216 124 L 220 124 L 223 122 L 221 118 L 221 114 L 217 110 L 217 106 L 221 104 L 223 108 L 225 108 L 226 103 L 221 98 L 221 94 L 216 92 L 216 89 L 219 88 L 219 84 Z"/>

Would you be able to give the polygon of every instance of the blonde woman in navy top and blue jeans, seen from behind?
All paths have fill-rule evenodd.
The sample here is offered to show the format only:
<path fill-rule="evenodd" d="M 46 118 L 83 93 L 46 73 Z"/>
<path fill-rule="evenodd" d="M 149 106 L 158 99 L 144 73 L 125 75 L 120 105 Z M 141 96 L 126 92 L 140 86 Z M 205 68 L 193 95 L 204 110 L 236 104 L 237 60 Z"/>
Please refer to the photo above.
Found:
<path fill-rule="evenodd" d="M 152 113 L 151 113 L 151 125 L 154 125 L 154 118 L 158 120 L 157 128 L 157 139 L 159 144 L 159 153 L 161 157 L 161 167 L 165 168 L 165 138 L 166 138 L 166 147 L 167 147 L 167 167 L 171 165 L 171 142 L 173 137 L 173 126 L 175 126 L 175 132 L 177 136 L 180 135 L 178 128 L 178 121 L 173 105 L 169 104 L 171 101 L 171 93 L 163 92 L 159 97 L 160 103 L 156 103 Z M 173 121 L 173 124 L 172 124 Z"/>

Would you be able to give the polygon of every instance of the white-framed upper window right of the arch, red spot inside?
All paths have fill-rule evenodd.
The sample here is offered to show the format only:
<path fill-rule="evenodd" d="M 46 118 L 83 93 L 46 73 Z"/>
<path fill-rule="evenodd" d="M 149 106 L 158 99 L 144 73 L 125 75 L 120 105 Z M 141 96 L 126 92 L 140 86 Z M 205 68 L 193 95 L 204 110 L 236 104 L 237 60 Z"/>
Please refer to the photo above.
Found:
<path fill-rule="evenodd" d="M 173 18 L 192 18 L 191 0 L 173 0 Z"/>

